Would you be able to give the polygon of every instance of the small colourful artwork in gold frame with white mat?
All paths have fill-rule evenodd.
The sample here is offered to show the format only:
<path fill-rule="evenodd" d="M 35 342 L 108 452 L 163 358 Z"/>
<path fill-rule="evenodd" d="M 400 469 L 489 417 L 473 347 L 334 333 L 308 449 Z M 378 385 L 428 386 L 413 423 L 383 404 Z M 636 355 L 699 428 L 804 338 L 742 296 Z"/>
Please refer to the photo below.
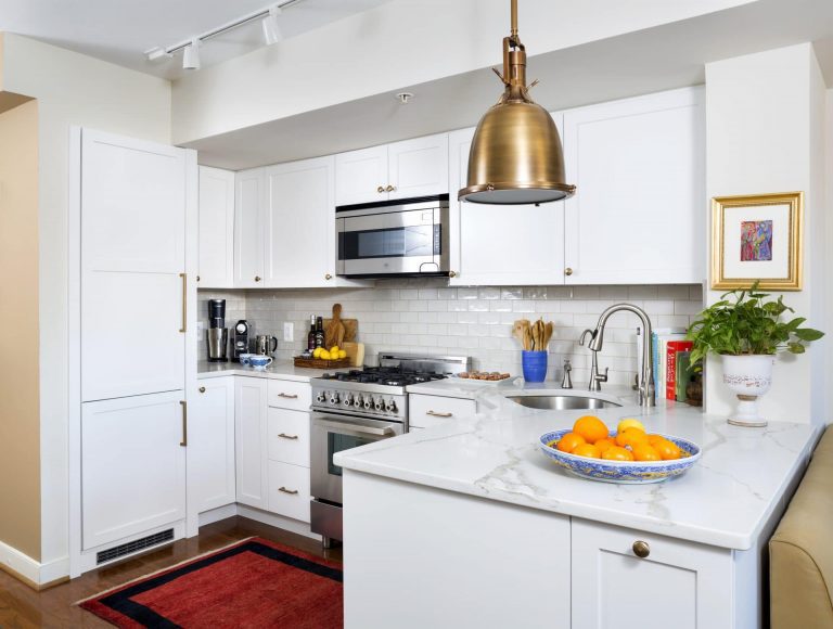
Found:
<path fill-rule="evenodd" d="M 712 200 L 712 287 L 802 290 L 803 192 Z"/>

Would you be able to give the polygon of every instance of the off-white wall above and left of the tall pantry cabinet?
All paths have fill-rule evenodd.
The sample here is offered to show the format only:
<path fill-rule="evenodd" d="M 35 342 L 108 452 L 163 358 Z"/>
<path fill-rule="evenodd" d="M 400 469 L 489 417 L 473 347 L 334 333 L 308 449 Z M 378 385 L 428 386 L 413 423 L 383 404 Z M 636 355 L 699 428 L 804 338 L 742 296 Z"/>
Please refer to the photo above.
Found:
<path fill-rule="evenodd" d="M 17 35 L 2 41 L 3 89 L 38 99 L 41 557 L 49 564 L 68 553 L 69 127 L 168 143 L 170 84 Z"/>

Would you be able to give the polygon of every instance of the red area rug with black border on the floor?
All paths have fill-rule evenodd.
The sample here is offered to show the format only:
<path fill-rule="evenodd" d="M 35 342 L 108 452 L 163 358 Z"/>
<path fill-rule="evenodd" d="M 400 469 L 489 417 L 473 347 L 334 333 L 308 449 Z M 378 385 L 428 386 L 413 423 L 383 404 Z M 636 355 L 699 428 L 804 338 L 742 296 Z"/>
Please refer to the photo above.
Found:
<path fill-rule="evenodd" d="M 79 603 L 117 627 L 342 627 L 338 564 L 253 538 Z"/>

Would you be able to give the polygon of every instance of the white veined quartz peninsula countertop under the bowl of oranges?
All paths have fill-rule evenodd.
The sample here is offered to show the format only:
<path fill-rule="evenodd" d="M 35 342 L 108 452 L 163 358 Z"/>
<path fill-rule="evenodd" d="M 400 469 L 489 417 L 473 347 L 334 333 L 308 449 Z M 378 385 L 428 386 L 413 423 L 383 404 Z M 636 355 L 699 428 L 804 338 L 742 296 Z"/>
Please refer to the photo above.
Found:
<path fill-rule="evenodd" d="M 612 428 L 621 418 L 637 416 L 650 432 L 691 439 L 703 448 L 701 460 L 680 477 L 614 485 L 572 476 L 539 451 L 540 435 L 571 427 L 588 411 L 527 409 L 503 395 L 482 389 L 475 399 L 486 412 L 339 452 L 334 462 L 377 476 L 746 550 L 803 471 L 818 431 L 791 423 L 742 428 L 685 405 L 644 413 L 640 407 L 593 410 Z"/>

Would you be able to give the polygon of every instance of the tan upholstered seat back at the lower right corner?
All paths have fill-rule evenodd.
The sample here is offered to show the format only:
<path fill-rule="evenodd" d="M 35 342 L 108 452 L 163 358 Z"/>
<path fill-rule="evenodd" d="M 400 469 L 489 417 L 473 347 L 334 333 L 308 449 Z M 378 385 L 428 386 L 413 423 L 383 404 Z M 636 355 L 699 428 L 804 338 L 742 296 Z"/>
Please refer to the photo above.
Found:
<path fill-rule="evenodd" d="M 769 541 L 772 629 L 833 629 L 833 427 Z"/>

